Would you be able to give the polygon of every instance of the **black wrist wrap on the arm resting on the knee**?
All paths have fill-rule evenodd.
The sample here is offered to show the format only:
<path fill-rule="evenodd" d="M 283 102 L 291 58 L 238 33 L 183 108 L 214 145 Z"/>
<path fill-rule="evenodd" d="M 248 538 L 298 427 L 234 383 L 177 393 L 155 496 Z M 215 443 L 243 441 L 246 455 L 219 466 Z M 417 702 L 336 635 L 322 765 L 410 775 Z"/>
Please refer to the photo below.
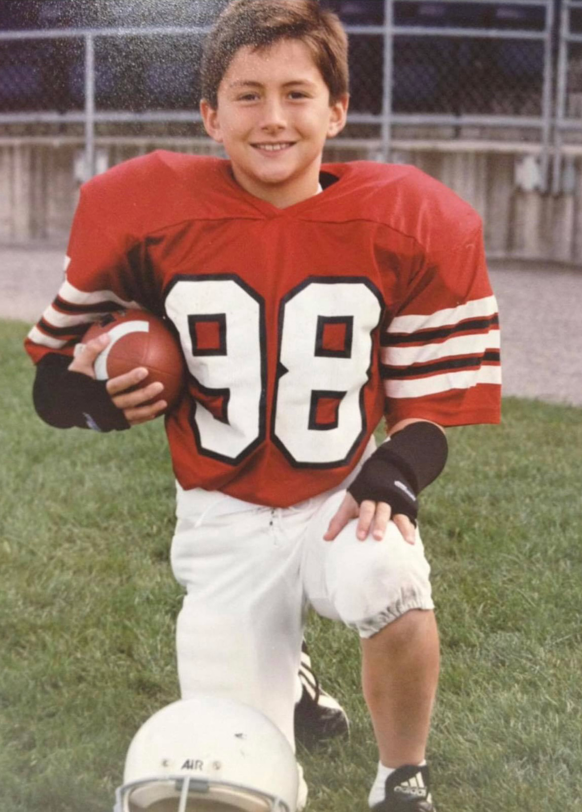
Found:
<path fill-rule="evenodd" d="M 446 436 L 437 425 L 411 423 L 374 451 L 347 490 L 358 504 L 386 502 L 393 515 L 416 520 L 416 496 L 441 473 L 447 453 Z"/>

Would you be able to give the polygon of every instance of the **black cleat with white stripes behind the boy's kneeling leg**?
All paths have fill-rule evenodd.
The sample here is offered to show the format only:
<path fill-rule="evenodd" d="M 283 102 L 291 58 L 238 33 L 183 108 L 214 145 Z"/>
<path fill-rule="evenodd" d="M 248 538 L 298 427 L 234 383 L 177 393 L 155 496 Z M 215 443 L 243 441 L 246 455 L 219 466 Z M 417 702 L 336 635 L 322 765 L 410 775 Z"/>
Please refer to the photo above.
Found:
<path fill-rule="evenodd" d="M 311 667 L 307 646 L 301 649 L 301 698 L 295 705 L 295 738 L 312 749 L 322 741 L 348 736 L 350 723 L 339 702 L 321 688 Z"/>

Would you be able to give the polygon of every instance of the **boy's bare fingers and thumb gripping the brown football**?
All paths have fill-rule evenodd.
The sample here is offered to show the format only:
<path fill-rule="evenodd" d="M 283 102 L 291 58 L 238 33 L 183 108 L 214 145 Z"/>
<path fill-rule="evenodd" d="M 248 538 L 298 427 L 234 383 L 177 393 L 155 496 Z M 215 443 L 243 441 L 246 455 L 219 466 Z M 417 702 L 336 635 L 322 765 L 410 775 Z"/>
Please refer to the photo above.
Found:
<path fill-rule="evenodd" d="M 110 336 L 104 333 L 97 339 L 84 344 L 83 349 L 73 358 L 68 368 L 71 372 L 80 372 L 88 375 L 89 378 L 95 378 L 93 364 L 109 342 Z M 110 378 L 106 383 L 106 390 L 111 400 L 117 408 L 122 410 L 129 425 L 138 425 L 153 420 L 155 417 L 159 417 L 167 406 L 165 400 L 149 403 L 150 400 L 161 394 L 164 388 L 163 383 L 150 383 L 147 387 L 132 389 L 147 377 L 148 370 L 143 366 L 138 366 L 117 378 Z M 132 391 L 127 391 L 128 389 Z"/>

